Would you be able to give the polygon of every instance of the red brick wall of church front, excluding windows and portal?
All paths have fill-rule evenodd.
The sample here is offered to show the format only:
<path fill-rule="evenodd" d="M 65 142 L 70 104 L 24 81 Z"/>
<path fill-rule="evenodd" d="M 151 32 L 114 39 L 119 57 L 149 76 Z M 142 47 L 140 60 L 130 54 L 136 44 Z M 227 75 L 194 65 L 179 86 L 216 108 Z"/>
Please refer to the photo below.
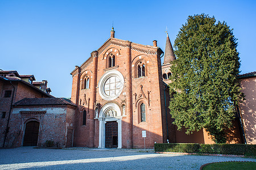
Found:
<path fill-rule="evenodd" d="M 119 40 L 114 39 L 115 42 Z M 81 101 L 84 100 L 84 94 L 86 94 L 86 100 L 90 101 L 88 105 L 80 105 L 76 113 L 76 130 L 75 130 L 75 145 L 76 146 L 88 146 L 98 147 L 98 127 L 99 121 L 94 120 L 94 105 L 100 103 L 101 107 L 109 102 L 114 102 L 121 108 L 121 103 L 126 103 L 126 117 L 122 118 L 122 147 L 144 147 L 142 138 L 142 130 L 147 131 L 146 146 L 153 147 L 154 142 L 163 142 L 163 124 L 162 124 L 162 112 L 164 111 L 164 100 L 163 99 L 163 84 L 162 84 L 162 71 L 160 65 L 160 56 L 157 54 L 147 54 L 144 52 L 138 52 L 135 48 L 141 48 L 145 51 L 152 50 L 156 52 L 158 48 L 152 46 L 143 46 L 139 44 L 133 44 L 129 41 L 122 41 L 126 46 L 118 46 L 111 44 L 104 50 L 104 52 L 98 55 L 98 58 L 93 58 L 92 62 L 85 69 L 81 66 L 81 73 L 75 75 L 73 73 L 73 84 L 72 84 L 72 101 L 75 102 L 76 95 L 80 105 Z M 131 44 L 132 49 L 129 48 Z M 125 78 L 125 84 L 121 95 L 113 101 L 106 101 L 101 98 L 98 93 L 98 82 L 102 75 L 106 73 L 106 59 L 104 54 L 109 49 L 117 49 L 119 55 L 115 57 L 115 66 L 118 66 L 114 70 L 119 71 Z M 146 76 L 142 78 L 135 78 L 135 67 L 132 65 L 143 59 L 146 62 Z M 90 59 L 89 59 L 90 60 Z M 77 69 L 78 70 L 78 69 Z M 87 71 L 87 73 L 85 73 Z M 74 76 L 75 75 L 75 76 Z M 82 90 L 81 80 L 85 75 L 91 77 L 90 88 Z M 80 79 L 79 79 L 80 77 Z M 79 79 L 79 81 L 78 81 Z M 93 84 L 93 82 L 96 82 Z M 79 86 L 77 86 L 77 82 Z M 139 112 L 136 106 L 135 93 L 137 95 L 141 92 L 141 85 L 143 86 L 143 92 L 146 98 L 143 99 L 146 104 L 146 122 L 139 122 Z M 79 88 L 80 89 L 79 89 Z M 162 92 L 160 92 L 162 91 Z M 125 92 L 126 94 L 123 94 Z M 148 93 L 149 92 L 149 99 Z M 86 125 L 81 125 L 82 111 L 86 109 L 88 116 L 86 117 Z M 164 112 L 165 115 L 165 112 Z M 165 133 L 165 131 L 164 131 Z"/>

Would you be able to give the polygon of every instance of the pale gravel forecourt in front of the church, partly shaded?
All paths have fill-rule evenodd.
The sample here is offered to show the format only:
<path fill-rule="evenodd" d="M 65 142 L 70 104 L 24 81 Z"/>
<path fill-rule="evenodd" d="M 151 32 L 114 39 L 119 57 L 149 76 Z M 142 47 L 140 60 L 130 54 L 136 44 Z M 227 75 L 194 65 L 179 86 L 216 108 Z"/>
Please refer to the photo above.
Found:
<path fill-rule="evenodd" d="M 224 161 L 253 158 L 155 154 L 153 150 L 19 147 L 0 149 L 0 169 L 199 169 Z"/>

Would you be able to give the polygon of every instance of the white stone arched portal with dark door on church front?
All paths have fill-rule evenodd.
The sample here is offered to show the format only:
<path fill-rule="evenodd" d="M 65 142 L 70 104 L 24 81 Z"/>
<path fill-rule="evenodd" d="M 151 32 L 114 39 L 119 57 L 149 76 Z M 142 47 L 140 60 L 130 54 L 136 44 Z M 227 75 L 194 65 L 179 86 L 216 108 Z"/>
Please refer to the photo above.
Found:
<path fill-rule="evenodd" d="M 105 104 L 98 117 L 100 121 L 99 148 L 122 148 L 122 116 L 115 103 Z"/>

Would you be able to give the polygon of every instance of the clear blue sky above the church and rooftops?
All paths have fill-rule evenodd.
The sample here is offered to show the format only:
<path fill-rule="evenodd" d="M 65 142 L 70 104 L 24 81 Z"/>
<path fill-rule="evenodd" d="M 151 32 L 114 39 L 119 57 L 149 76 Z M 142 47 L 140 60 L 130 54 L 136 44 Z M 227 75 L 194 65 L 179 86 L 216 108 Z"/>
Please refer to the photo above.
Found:
<path fill-rule="evenodd" d="M 164 51 L 189 15 L 225 21 L 238 39 L 241 74 L 256 71 L 256 1 L 0 1 L 0 69 L 48 80 L 56 97 L 71 97 L 71 71 L 110 37 Z"/>

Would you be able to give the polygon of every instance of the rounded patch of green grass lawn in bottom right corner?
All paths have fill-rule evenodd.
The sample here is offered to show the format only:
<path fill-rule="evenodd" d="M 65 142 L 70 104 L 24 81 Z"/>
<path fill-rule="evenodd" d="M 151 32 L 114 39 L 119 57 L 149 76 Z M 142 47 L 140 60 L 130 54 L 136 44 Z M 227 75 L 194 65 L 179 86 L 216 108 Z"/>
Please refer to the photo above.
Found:
<path fill-rule="evenodd" d="M 219 162 L 206 165 L 203 170 L 209 169 L 256 169 L 256 162 Z"/>

